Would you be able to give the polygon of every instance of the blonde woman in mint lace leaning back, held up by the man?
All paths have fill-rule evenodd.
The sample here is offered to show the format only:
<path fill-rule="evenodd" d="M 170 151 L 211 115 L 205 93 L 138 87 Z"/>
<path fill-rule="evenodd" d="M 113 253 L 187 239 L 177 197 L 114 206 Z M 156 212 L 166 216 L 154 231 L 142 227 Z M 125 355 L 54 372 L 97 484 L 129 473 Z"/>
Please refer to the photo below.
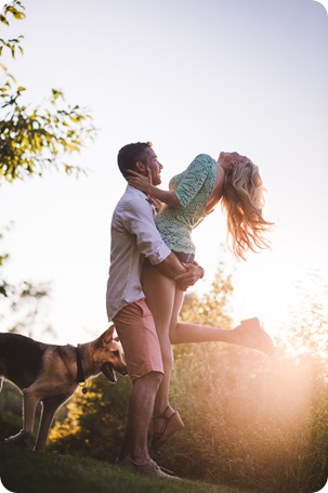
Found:
<path fill-rule="evenodd" d="M 232 250 L 244 259 L 248 250 L 267 247 L 265 232 L 272 223 L 262 216 L 264 186 L 259 168 L 238 153 L 221 153 L 218 161 L 200 154 L 188 168 L 173 177 L 170 190 L 154 186 L 148 177 L 130 171 L 129 184 L 166 206 L 156 217 L 156 225 L 180 260 L 193 263 L 195 245 L 192 231 L 221 203 L 226 213 Z M 225 341 L 272 353 L 273 343 L 258 319 L 242 321 L 233 330 L 179 323 L 184 291 L 179 283 L 145 263 L 143 289 L 155 319 L 161 345 L 165 376 L 154 408 L 153 445 L 161 446 L 183 428 L 178 412 L 169 405 L 169 386 L 173 364 L 171 345 L 182 342 Z"/>

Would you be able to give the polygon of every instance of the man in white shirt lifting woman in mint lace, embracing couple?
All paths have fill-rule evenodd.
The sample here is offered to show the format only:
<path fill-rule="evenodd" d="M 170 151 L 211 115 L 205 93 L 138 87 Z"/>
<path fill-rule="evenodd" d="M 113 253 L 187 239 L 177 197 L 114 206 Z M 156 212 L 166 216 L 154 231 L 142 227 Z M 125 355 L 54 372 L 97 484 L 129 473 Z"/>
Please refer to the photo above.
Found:
<path fill-rule="evenodd" d="M 222 204 L 237 258 L 267 247 L 271 224 L 262 216 L 264 186 L 259 168 L 236 152 L 218 160 L 198 155 L 161 190 L 162 165 L 149 142 L 118 153 L 127 189 L 111 219 L 106 306 L 122 343 L 132 380 L 128 418 L 118 464 L 136 472 L 173 478 L 152 458 L 183 421 L 169 404 L 173 364 L 171 345 L 225 341 L 271 354 L 270 336 L 258 319 L 232 330 L 179 322 L 185 290 L 204 276 L 195 260 L 192 231 Z"/>

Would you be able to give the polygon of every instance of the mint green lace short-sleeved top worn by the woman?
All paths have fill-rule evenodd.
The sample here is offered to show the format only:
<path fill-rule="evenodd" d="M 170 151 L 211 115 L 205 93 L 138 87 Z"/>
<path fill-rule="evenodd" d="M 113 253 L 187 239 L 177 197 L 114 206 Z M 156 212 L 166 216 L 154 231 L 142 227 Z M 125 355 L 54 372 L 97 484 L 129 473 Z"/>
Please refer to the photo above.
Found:
<path fill-rule="evenodd" d="M 182 208 L 165 206 L 156 216 L 156 226 L 171 250 L 195 254 L 192 232 L 206 217 L 217 173 L 215 159 L 199 154 L 185 171 L 171 179 L 170 190 L 175 191 Z"/>

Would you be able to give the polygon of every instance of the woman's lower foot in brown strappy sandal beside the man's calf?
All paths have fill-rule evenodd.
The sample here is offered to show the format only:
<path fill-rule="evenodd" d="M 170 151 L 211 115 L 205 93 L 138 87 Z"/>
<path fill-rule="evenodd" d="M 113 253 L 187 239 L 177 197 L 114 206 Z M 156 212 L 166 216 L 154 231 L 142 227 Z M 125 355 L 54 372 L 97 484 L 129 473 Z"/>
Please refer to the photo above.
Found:
<path fill-rule="evenodd" d="M 153 417 L 152 446 L 159 449 L 175 431 L 180 431 L 182 428 L 184 428 L 184 424 L 180 414 L 168 405 L 162 414 Z"/>

